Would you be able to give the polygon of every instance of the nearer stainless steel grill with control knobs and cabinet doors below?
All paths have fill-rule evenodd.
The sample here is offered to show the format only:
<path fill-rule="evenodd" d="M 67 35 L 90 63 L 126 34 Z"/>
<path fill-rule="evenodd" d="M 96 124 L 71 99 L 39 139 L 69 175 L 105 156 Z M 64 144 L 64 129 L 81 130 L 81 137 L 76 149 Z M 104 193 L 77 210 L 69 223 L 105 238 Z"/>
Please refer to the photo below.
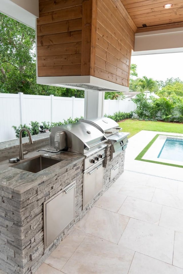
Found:
<path fill-rule="evenodd" d="M 107 137 L 93 125 L 78 122 L 52 127 L 50 149 L 85 156 L 83 160 L 83 208 L 103 188 Z"/>

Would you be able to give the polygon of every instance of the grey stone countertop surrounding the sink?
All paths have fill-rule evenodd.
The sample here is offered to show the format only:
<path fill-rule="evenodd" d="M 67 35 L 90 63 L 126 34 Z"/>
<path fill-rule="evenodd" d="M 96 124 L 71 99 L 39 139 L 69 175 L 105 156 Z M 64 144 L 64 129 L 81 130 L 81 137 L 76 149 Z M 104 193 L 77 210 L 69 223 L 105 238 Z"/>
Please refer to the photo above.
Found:
<path fill-rule="evenodd" d="M 47 147 L 41 148 L 47 150 Z M 19 163 L 9 163 L 8 159 L 0 162 L 0 189 L 6 190 L 7 192 L 13 191 L 16 193 L 23 193 L 43 181 L 47 181 L 57 174 L 63 174 L 69 170 L 73 164 L 82 161 L 85 157 L 82 155 L 75 155 L 70 153 L 58 152 L 51 153 L 40 150 L 32 151 L 24 155 L 24 160 L 19 163 L 23 163 L 30 158 L 46 155 L 50 158 L 61 160 L 59 163 L 54 164 L 46 169 L 43 169 L 37 173 L 32 173 L 29 171 L 24 171 L 21 169 L 14 168 L 13 166 Z"/>

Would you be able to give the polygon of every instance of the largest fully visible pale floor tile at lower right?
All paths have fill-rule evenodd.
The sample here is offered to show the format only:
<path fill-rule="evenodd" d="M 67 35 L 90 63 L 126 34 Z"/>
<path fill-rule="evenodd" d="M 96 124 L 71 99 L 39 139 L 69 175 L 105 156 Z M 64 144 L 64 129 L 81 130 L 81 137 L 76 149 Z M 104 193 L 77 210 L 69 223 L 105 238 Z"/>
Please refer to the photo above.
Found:
<path fill-rule="evenodd" d="M 118 244 L 166 263 L 172 263 L 174 231 L 130 219 Z"/>

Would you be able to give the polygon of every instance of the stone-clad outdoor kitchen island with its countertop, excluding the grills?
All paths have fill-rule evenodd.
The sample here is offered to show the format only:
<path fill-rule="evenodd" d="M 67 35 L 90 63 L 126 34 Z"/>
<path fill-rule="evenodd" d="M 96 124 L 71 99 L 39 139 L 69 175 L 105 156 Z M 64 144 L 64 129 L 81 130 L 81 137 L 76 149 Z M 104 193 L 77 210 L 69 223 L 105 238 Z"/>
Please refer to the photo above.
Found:
<path fill-rule="evenodd" d="M 47 150 L 47 147 L 42 149 Z M 7 273 L 34 273 L 124 170 L 125 151 L 111 159 L 111 144 L 106 143 L 103 187 L 83 208 L 84 156 L 32 150 L 21 162 L 39 155 L 55 159 L 58 163 L 32 173 L 14 168 L 13 165 L 18 163 L 9 163 L 8 157 L 0 162 L 0 269 Z M 44 209 L 51 198 L 63 193 L 66 197 L 67 190 L 68 194 L 74 193 L 74 204 L 69 200 L 73 204 L 74 214 L 56 237 L 56 234 L 52 235 L 53 241 L 49 242 L 48 235 L 46 246 Z M 62 203 L 61 216 L 68 208 L 67 201 Z"/>

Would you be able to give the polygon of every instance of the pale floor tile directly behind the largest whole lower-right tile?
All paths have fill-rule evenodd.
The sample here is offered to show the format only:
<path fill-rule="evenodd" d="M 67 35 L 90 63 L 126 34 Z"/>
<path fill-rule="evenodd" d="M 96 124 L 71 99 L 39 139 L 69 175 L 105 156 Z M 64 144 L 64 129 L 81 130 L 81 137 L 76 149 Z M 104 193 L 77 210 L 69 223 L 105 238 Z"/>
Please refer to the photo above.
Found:
<path fill-rule="evenodd" d="M 161 210 L 162 205 L 128 196 L 118 213 L 148 223 L 158 224 Z"/>

